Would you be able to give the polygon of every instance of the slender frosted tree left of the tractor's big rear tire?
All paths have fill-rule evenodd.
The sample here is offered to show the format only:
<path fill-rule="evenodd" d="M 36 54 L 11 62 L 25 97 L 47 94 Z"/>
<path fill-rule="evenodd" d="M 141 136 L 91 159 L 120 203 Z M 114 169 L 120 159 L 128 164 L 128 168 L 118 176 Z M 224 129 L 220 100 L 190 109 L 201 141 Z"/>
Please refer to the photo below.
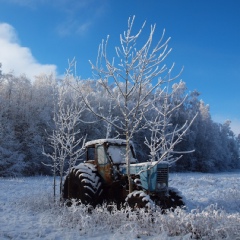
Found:
<path fill-rule="evenodd" d="M 56 195 L 56 174 L 59 173 L 60 175 L 61 193 L 63 176 L 81 159 L 86 139 L 84 136 L 79 137 L 79 124 L 85 106 L 81 103 L 81 99 L 74 96 L 72 91 L 69 90 L 69 78 L 71 78 L 71 75 L 67 71 L 65 81 L 55 88 L 54 96 L 56 99 L 53 117 L 55 129 L 49 137 L 53 151 L 52 153 L 46 153 L 43 150 L 43 154 L 53 162 L 51 167 L 54 175 L 54 198 Z"/>

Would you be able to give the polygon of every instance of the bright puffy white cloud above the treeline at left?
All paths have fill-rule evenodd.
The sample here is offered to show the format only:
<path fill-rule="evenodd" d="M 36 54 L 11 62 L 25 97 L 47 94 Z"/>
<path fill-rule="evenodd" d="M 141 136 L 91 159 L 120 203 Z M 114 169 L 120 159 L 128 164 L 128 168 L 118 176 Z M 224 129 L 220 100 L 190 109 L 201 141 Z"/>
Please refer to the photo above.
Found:
<path fill-rule="evenodd" d="M 30 79 L 42 73 L 56 73 L 57 69 L 55 65 L 39 63 L 29 48 L 20 45 L 15 29 L 7 23 L 0 23 L 0 63 L 4 73 L 13 71 Z"/>

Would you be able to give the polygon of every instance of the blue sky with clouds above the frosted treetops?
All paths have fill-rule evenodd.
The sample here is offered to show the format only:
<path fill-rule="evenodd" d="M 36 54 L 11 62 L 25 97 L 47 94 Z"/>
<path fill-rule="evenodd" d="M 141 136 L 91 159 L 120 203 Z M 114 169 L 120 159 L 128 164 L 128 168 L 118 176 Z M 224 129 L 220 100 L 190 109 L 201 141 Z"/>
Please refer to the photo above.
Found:
<path fill-rule="evenodd" d="M 184 66 L 188 90 L 201 93 L 214 121 L 230 119 L 240 133 L 238 0 L 0 0 L 2 70 L 62 75 L 75 57 L 77 74 L 89 78 L 99 43 L 110 35 L 109 47 L 119 45 L 133 15 L 136 30 L 146 20 L 146 35 L 154 23 L 156 39 L 166 29 L 168 61 Z"/>

